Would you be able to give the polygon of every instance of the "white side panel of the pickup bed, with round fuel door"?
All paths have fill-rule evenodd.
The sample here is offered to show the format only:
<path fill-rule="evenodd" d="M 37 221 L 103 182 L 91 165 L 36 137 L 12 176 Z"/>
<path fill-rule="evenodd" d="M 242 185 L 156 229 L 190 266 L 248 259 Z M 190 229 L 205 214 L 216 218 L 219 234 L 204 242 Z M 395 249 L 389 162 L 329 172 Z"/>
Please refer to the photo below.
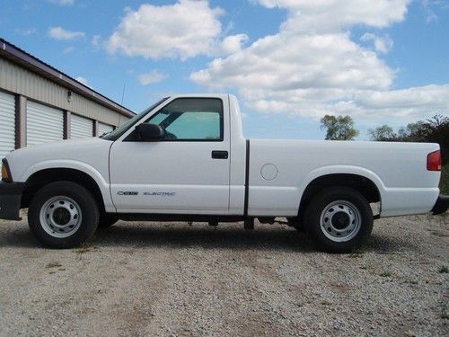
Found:
<path fill-rule="evenodd" d="M 439 172 L 427 171 L 436 144 L 251 139 L 249 215 L 295 216 L 305 188 L 322 175 L 365 176 L 377 186 L 382 216 L 428 212 Z"/>

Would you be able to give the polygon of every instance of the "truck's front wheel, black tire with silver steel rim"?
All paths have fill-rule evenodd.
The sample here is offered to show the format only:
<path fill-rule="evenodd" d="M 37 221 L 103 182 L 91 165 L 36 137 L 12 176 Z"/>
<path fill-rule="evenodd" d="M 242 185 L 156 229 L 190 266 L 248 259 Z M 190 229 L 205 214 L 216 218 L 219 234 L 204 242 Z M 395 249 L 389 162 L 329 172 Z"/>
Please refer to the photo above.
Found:
<path fill-rule="evenodd" d="M 28 225 L 40 244 L 72 248 L 89 240 L 100 213 L 92 193 L 75 182 L 52 182 L 31 199 Z"/>

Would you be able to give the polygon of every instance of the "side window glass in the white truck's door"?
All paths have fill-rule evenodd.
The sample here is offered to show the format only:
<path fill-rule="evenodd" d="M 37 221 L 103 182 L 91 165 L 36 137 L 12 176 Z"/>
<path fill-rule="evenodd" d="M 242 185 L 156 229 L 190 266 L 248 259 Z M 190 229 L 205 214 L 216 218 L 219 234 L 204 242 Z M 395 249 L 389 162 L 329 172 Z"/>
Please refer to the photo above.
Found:
<path fill-rule="evenodd" d="M 145 122 L 158 124 L 172 140 L 223 140 L 223 102 L 216 98 L 174 100 Z"/>

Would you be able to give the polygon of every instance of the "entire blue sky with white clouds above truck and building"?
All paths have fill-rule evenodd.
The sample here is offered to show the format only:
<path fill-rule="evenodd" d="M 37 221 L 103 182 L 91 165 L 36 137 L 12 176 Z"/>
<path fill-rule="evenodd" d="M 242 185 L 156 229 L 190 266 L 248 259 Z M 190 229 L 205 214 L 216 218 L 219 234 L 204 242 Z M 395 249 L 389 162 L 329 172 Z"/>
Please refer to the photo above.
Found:
<path fill-rule="evenodd" d="M 449 116 L 449 0 L 2 0 L 0 37 L 135 112 L 233 93 L 246 137 Z"/>

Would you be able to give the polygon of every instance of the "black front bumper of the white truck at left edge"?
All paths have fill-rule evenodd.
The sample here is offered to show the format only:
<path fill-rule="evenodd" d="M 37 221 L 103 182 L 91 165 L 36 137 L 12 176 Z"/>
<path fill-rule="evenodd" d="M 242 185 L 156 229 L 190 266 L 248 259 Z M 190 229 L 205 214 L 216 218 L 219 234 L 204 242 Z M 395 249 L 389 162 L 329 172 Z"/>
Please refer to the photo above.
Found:
<path fill-rule="evenodd" d="M 24 182 L 0 182 L 0 218 L 21 220 L 22 191 Z"/>

